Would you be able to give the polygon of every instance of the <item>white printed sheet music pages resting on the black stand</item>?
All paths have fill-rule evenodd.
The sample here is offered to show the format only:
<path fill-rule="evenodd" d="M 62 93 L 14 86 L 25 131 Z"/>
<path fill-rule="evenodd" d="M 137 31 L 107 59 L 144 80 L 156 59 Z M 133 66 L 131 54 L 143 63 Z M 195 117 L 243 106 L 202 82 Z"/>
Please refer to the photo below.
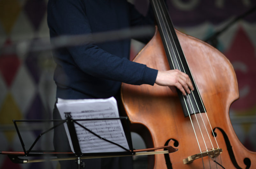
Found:
<path fill-rule="evenodd" d="M 64 112 L 71 112 L 72 119 L 119 117 L 117 103 L 114 97 L 108 99 L 82 100 L 64 100 L 58 98 L 58 103 L 56 105 L 63 120 L 66 119 Z M 121 120 L 88 120 L 77 122 L 98 134 L 100 137 L 117 143 L 129 150 Z M 76 123 L 74 123 L 74 125 L 82 153 L 125 152 L 121 147 L 98 138 Z M 64 127 L 68 135 L 71 150 L 75 153 L 66 123 L 64 123 Z"/>

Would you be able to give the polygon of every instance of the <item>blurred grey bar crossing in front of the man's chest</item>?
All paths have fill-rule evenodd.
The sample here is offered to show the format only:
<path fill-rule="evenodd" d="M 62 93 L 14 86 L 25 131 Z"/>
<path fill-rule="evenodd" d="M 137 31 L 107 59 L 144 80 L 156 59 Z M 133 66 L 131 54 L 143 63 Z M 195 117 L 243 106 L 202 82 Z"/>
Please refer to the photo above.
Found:
<path fill-rule="evenodd" d="M 155 28 L 153 26 L 143 26 L 93 34 L 63 35 L 51 38 L 51 40 L 49 37 L 26 39 L 20 42 L 14 42 L 10 45 L 4 45 L 2 54 L 36 52 L 61 47 L 78 46 L 86 43 L 101 43 L 131 38 L 142 38 L 153 36 L 154 31 Z"/>

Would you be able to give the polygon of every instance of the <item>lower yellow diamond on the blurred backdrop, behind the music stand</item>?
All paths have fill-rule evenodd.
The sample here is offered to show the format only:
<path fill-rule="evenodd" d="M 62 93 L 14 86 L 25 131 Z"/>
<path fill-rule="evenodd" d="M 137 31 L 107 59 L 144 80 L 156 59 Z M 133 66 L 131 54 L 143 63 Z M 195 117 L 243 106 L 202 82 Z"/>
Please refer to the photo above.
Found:
<path fill-rule="evenodd" d="M 14 101 L 13 97 L 11 96 L 10 92 L 8 92 L 8 94 L 6 95 L 6 98 L 0 109 L 0 117 L 1 125 L 13 124 L 13 119 L 22 119 L 21 111 L 17 106 L 16 102 Z M 5 131 L 4 134 L 6 135 L 8 141 L 11 142 L 13 137 L 17 133 L 16 131 Z"/>

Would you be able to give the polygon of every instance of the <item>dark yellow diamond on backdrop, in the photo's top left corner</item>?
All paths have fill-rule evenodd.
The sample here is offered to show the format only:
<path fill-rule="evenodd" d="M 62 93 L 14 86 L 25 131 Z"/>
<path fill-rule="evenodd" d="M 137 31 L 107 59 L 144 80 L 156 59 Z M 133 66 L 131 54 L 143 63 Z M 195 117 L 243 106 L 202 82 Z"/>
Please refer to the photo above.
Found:
<path fill-rule="evenodd" d="M 17 0 L 0 0 L 0 21 L 6 34 L 10 34 L 20 11 L 21 6 Z"/>

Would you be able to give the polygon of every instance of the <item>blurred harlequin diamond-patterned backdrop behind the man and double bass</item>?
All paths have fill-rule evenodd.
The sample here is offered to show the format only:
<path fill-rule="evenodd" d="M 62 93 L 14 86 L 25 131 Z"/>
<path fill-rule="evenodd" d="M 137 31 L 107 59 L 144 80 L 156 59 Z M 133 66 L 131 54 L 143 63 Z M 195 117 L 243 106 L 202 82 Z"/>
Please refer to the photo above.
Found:
<path fill-rule="evenodd" d="M 0 151 L 21 151 L 21 144 L 12 119 L 51 119 L 55 103 L 51 51 L 31 52 L 33 41 L 49 41 L 47 0 L 0 0 Z M 143 14 L 148 0 L 130 0 Z M 256 1 L 253 0 L 167 0 L 172 22 L 181 32 L 206 40 L 222 30 L 235 17 L 254 11 L 233 23 L 209 43 L 216 46 L 232 63 L 238 80 L 240 98 L 230 107 L 230 120 L 242 144 L 256 151 Z M 28 40 L 30 46 L 19 43 L 15 52 L 3 52 L 5 47 Z M 131 58 L 144 46 L 132 40 Z M 22 138 L 28 149 L 38 134 L 48 125 L 20 124 Z M 43 129 L 43 130 L 42 130 Z M 143 146 L 135 133 L 134 146 Z M 42 136 L 37 149 L 53 149 L 52 134 Z M 137 141 L 139 140 L 139 141 Z M 137 143 L 138 142 L 138 143 Z M 14 164 L 0 155 L 0 169 L 55 169 L 52 163 Z M 139 168 L 139 167 L 138 167 Z"/>

